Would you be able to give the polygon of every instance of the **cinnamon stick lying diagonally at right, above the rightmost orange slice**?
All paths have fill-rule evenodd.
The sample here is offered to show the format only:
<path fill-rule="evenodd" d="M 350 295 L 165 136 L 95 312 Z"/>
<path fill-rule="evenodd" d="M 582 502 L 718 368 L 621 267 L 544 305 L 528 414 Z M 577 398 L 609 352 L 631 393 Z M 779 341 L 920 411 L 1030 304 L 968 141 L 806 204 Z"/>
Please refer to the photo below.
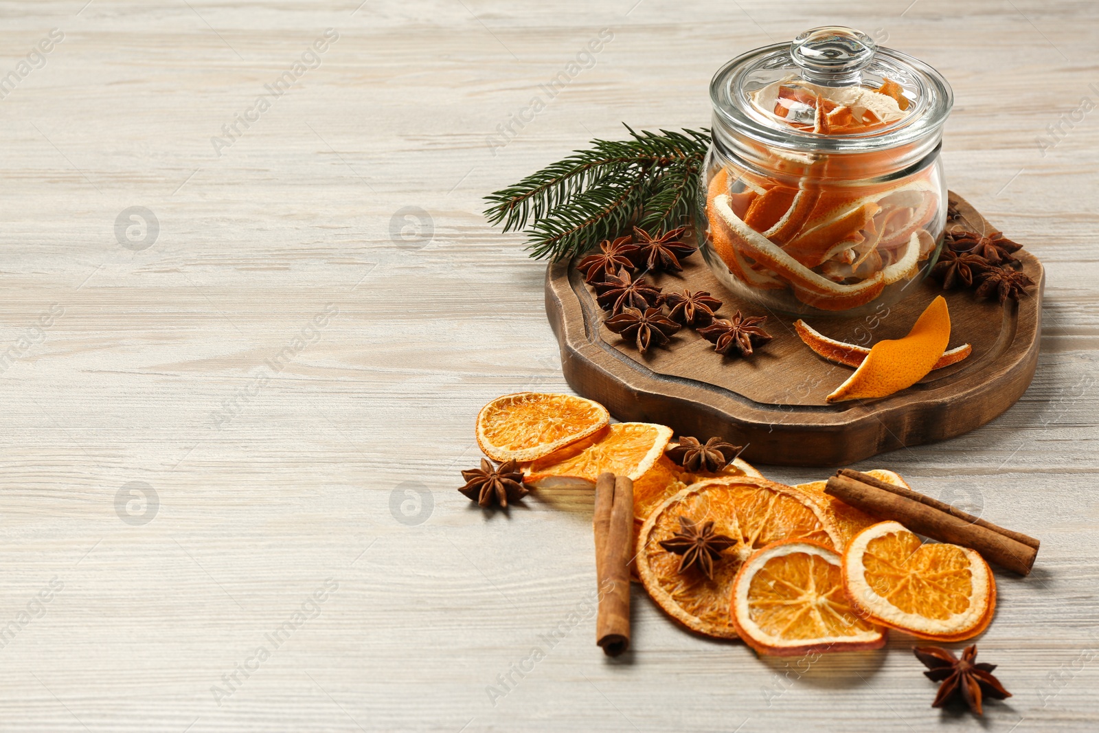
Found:
<path fill-rule="evenodd" d="M 1041 544 L 931 497 L 847 468 L 828 480 L 824 493 L 932 540 L 976 549 L 985 559 L 1020 575 L 1031 571 Z"/>

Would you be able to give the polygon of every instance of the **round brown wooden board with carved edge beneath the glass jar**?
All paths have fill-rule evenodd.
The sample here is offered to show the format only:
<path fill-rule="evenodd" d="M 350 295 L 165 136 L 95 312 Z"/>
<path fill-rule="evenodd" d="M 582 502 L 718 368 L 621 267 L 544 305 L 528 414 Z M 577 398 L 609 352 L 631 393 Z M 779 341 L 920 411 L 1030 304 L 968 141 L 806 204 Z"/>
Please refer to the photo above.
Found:
<path fill-rule="evenodd" d="M 951 193 L 966 225 L 996 231 L 966 201 Z M 1019 303 L 1001 307 L 972 290 L 943 291 L 928 278 L 913 282 L 902 301 L 863 318 L 807 316 L 826 336 L 873 345 L 908 333 L 928 303 L 946 297 L 950 347 L 973 345 L 965 360 L 936 369 L 912 387 L 877 400 L 828 404 L 824 397 L 851 376 L 850 367 L 817 356 L 793 331 L 797 316 L 766 312 L 719 284 L 701 254 L 684 271 L 646 275 L 664 292 L 708 290 L 724 304 L 718 315 L 740 310 L 767 315 L 774 336 L 751 357 L 723 357 L 693 330 L 684 327 L 664 348 L 640 354 L 603 324 L 606 312 L 575 263 L 546 273 L 546 313 L 560 343 L 568 384 L 607 406 L 622 421 L 656 422 L 677 435 L 720 435 L 745 445 L 753 463 L 841 466 L 903 446 L 941 441 L 992 420 L 1018 400 L 1037 365 L 1041 335 L 1042 264 L 1025 248 L 1015 254 L 1036 287 Z"/>

